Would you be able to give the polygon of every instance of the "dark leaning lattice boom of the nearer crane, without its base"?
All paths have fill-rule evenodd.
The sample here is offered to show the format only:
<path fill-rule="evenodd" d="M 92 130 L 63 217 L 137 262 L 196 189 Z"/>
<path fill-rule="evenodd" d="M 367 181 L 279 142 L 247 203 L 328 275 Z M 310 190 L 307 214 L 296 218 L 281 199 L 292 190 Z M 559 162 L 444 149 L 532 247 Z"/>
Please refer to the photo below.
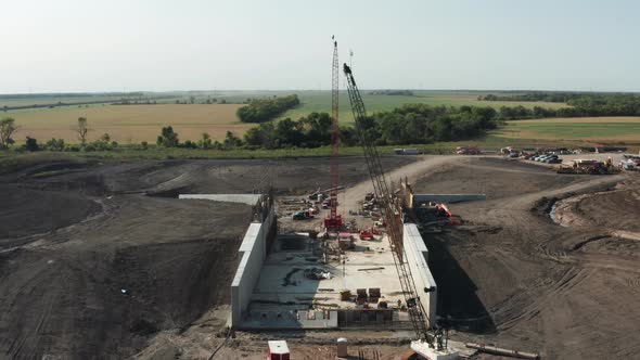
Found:
<path fill-rule="evenodd" d="M 372 139 L 369 139 L 366 129 L 363 128 L 367 111 L 360 91 L 356 85 L 354 74 L 351 73 L 351 68 L 347 64 L 344 64 L 343 69 L 347 77 L 347 90 L 349 102 L 351 103 L 351 110 L 354 112 L 354 118 L 356 119 L 356 129 L 364 150 L 364 158 L 367 160 L 367 167 L 369 169 L 371 182 L 373 183 L 375 196 L 377 201 L 381 202 L 380 208 L 382 209 L 383 218 L 386 221 L 387 236 L 392 244 L 394 262 L 396 265 L 396 270 L 398 271 L 400 286 L 402 288 L 405 301 L 407 303 L 411 324 L 418 338 L 426 340 L 432 345 L 433 339 L 427 332 L 426 312 L 424 311 L 424 307 L 415 291 L 415 284 L 413 283 L 413 277 L 411 275 L 411 269 L 407 262 L 407 255 L 404 248 L 401 210 L 387 185 L 377 149 L 373 144 Z"/>

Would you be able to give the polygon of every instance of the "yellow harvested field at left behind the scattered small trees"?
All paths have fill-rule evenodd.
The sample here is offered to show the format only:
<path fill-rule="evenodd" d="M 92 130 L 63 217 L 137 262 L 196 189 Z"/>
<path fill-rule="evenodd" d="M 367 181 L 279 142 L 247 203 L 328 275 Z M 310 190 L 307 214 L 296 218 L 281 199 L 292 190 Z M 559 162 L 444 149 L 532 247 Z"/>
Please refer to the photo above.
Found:
<path fill-rule="evenodd" d="M 23 142 L 28 136 L 39 141 L 61 138 L 78 141 L 73 128 L 78 117 L 86 117 L 94 140 L 107 132 L 119 143 L 155 142 L 164 126 L 172 126 L 180 141 L 195 141 L 203 132 L 222 140 L 227 131 L 236 136 L 254 127 L 241 123 L 235 116 L 239 104 L 158 104 L 158 105 L 97 105 L 89 107 L 56 107 L 0 113 L 0 117 L 15 118 L 20 127 L 14 139 Z"/>

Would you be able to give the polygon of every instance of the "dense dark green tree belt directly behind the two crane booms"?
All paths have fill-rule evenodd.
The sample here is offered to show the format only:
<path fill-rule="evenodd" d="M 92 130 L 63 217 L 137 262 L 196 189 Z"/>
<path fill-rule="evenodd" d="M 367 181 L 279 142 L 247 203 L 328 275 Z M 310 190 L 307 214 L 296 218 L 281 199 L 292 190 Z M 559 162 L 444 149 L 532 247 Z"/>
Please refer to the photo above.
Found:
<path fill-rule="evenodd" d="M 492 107 L 407 104 L 366 118 L 361 129 L 379 145 L 401 145 L 470 139 L 495 129 L 498 123 Z M 311 113 L 297 121 L 285 118 L 260 124 L 244 134 L 244 143 L 252 149 L 318 147 L 331 143 L 330 129 L 329 114 Z M 340 139 L 347 146 L 359 143 L 350 126 L 341 127 Z"/>

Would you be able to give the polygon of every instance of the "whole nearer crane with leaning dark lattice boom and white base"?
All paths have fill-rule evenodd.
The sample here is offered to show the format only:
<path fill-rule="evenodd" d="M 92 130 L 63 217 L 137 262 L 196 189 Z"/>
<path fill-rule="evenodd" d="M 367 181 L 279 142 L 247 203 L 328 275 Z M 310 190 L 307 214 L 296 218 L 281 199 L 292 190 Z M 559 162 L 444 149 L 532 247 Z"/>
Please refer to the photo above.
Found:
<path fill-rule="evenodd" d="M 411 351 L 406 359 L 428 359 L 428 360 L 451 360 L 458 359 L 458 351 L 448 346 L 448 342 L 441 330 L 430 332 L 427 313 L 420 301 L 419 293 L 415 290 L 411 269 L 407 262 L 407 255 L 402 242 L 402 210 L 400 202 L 394 197 L 394 193 L 387 185 L 385 172 L 382 168 L 380 155 L 373 140 L 369 139 L 363 131 L 363 124 L 367 119 L 364 102 L 356 85 L 351 68 L 344 64 L 343 72 L 347 78 L 347 92 L 351 111 L 356 120 L 356 130 L 364 151 L 364 159 L 371 182 L 373 184 L 375 198 L 379 200 L 382 217 L 386 224 L 387 237 L 392 245 L 394 262 L 400 280 L 400 286 L 407 304 L 407 310 L 415 339 L 411 342 Z"/>

